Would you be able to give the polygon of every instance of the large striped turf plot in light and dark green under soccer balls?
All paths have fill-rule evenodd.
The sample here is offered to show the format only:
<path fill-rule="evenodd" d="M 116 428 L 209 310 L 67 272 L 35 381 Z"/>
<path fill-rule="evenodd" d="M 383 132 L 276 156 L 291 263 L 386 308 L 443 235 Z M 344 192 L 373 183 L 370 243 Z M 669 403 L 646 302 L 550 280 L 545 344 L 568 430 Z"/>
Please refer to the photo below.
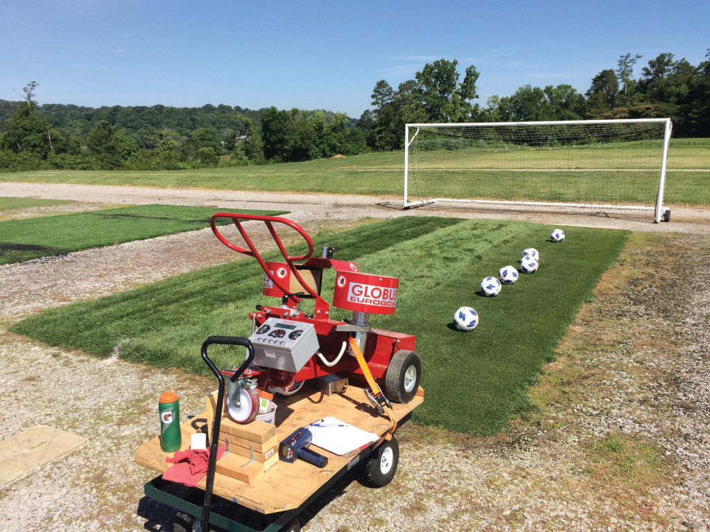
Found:
<path fill-rule="evenodd" d="M 579 307 L 628 238 L 625 231 L 563 229 L 564 242 L 552 243 L 552 227 L 540 224 L 401 217 L 315 242 L 317 249 L 331 245 L 335 258 L 351 260 L 361 271 L 400 279 L 396 313 L 371 315 L 371 323 L 417 335 L 425 402 L 415 419 L 484 435 L 528 409 L 526 389 L 552 360 Z M 481 279 L 517 266 L 531 246 L 540 251 L 540 269 L 520 274 L 498 297 L 483 297 Z M 118 347 L 127 360 L 209 375 L 200 345 L 210 335 L 249 336 L 249 311 L 275 304 L 261 295 L 261 283 L 256 261 L 241 260 L 51 309 L 11 331 L 102 357 Z M 334 273 L 327 271 L 327 301 L 333 286 Z M 480 316 L 468 333 L 452 323 L 464 305 Z M 332 310 L 335 318 L 351 318 L 349 311 Z M 243 360 L 243 350 L 229 349 L 214 346 L 210 356 L 218 367 Z"/>

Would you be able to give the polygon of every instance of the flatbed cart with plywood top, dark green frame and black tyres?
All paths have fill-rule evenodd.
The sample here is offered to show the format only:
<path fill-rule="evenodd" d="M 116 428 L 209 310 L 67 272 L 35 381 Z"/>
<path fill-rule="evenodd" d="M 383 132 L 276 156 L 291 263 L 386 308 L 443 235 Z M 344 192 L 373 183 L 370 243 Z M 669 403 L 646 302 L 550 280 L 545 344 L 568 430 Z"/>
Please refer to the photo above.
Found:
<path fill-rule="evenodd" d="M 420 387 L 417 395 L 406 404 L 392 404 L 391 415 L 400 425 L 407 421 L 412 411 L 422 404 L 424 392 Z M 287 438 L 297 428 L 307 426 L 325 416 L 349 423 L 378 436 L 385 437 L 391 430 L 392 422 L 388 416 L 379 414 L 366 399 L 364 388 L 350 384 L 344 393 L 328 395 L 310 387 L 303 387 L 300 392 L 290 397 L 278 397 L 275 416 L 275 441 Z M 200 415 L 182 423 L 182 447 L 190 447 L 190 434 L 207 432 L 208 421 L 212 413 L 205 410 Z M 255 433 L 261 433 L 263 426 L 256 423 Z M 249 423 L 251 424 L 251 423 Z M 248 426 L 248 425 L 247 425 Z M 245 426 L 245 427 L 247 427 Z M 271 438 L 271 436 L 269 436 Z M 258 438 L 256 438 L 258 439 Z M 264 438 L 262 438 L 264 439 Z M 266 442 L 270 443 L 270 442 Z M 258 442 L 253 451 L 259 453 Z M 231 452 L 217 462 L 212 491 L 219 497 L 209 516 L 211 525 L 229 531 L 297 531 L 300 525 L 297 516 L 336 482 L 342 475 L 358 465 L 371 484 L 384 485 L 393 477 L 398 460 L 398 444 L 395 436 L 390 440 L 381 439 L 366 448 L 354 450 L 344 456 L 329 453 L 314 446 L 314 450 L 327 456 L 327 466 L 320 469 L 303 460 L 293 463 L 278 460 L 268 463 L 252 460 L 251 453 L 239 453 L 230 445 Z M 136 462 L 158 472 L 165 472 L 170 463 L 165 458 L 173 453 L 163 453 L 159 438 L 153 438 L 138 448 Z M 278 451 L 277 451 L 278 455 Z M 241 470 L 245 480 L 220 473 L 222 470 Z M 266 471 L 264 471 L 266 469 Z M 231 473 L 230 473 L 231 474 Z M 206 479 L 198 485 L 199 489 L 186 489 L 156 477 L 145 485 L 148 497 L 161 501 L 178 509 L 187 526 L 176 530 L 191 529 L 192 519 L 199 521 L 202 512 Z M 238 506 L 238 508 L 230 508 Z M 226 511 L 220 511 L 220 508 Z M 254 514 L 258 515 L 254 515 Z M 195 523 L 199 527 L 199 522 Z"/>

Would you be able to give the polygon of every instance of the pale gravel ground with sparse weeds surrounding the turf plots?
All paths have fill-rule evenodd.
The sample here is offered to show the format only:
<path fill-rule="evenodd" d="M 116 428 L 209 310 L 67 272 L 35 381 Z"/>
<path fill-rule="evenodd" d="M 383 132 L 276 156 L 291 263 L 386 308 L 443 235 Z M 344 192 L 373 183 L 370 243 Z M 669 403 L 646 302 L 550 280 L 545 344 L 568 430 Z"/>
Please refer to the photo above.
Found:
<path fill-rule="evenodd" d="M 100 192 L 100 199 L 88 192 L 77 199 L 155 201 L 153 189 L 144 201 Z M 0 187 L 0 195 L 23 194 Z M 193 197 L 189 204 L 240 206 L 227 196 Z M 290 200 L 277 203 L 283 201 Z M 353 223 L 363 214 L 353 205 L 314 200 L 288 210 L 315 230 Z M 409 423 L 398 433 L 395 480 L 368 489 L 346 478 L 305 512 L 304 530 L 709 530 L 710 235 L 704 223 L 682 223 L 645 223 L 647 231 L 663 232 L 633 234 L 531 389 L 530 414 L 492 438 Z M 668 232 L 679 227 L 694 230 Z M 171 529 L 174 512 L 143 497 L 154 475 L 134 463 L 136 450 L 155 436 L 160 392 L 175 389 L 183 415 L 197 414 L 214 383 L 48 348 L 4 328 L 48 306 L 203 267 L 209 246 L 209 263 L 234 258 L 219 255 L 211 233 L 197 231 L 0 268 L 4 437 L 44 424 L 87 438 L 82 448 L 0 491 L 0 530 Z"/>

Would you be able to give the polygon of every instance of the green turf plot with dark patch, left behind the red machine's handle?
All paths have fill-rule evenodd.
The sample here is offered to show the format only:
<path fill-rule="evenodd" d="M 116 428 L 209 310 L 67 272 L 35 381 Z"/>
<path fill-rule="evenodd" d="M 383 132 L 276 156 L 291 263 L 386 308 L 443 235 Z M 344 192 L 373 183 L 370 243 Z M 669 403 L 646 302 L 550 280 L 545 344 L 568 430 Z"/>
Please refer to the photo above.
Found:
<path fill-rule="evenodd" d="M 202 229 L 220 210 L 224 209 L 141 205 L 4 221 L 0 222 L 0 264 Z M 223 219 L 220 223 L 231 221 Z"/>

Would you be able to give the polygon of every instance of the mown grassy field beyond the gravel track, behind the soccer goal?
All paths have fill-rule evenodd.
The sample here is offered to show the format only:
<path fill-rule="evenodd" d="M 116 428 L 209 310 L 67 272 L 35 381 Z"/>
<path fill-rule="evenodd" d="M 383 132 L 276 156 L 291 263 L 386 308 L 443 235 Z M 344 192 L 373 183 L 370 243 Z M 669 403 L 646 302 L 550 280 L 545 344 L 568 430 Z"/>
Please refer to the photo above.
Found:
<path fill-rule="evenodd" d="M 601 163 L 598 153 L 603 152 Z M 605 148 L 589 150 L 576 157 L 569 168 L 569 150 L 540 150 L 525 169 L 535 165 L 553 164 L 558 170 L 569 172 L 519 172 L 510 167 L 506 153 L 488 154 L 468 159 L 470 170 L 491 167 L 506 168 L 507 172 L 481 174 L 466 180 L 465 187 L 449 176 L 430 180 L 421 196 L 456 196 L 466 191 L 468 196 L 488 199 L 532 199 L 579 201 L 580 197 L 598 201 L 624 201 L 649 204 L 655 199 L 657 172 L 580 172 L 589 167 L 616 168 L 624 150 Z M 460 154 L 459 154 L 460 155 Z M 459 155 L 454 155 L 458 157 Z M 552 160 L 550 160 L 552 158 Z M 536 162 L 540 161 L 540 162 Z M 346 158 L 315 160 L 234 168 L 181 170 L 165 172 L 84 172 L 40 171 L 0 174 L 2 181 L 137 185 L 151 187 L 190 187 L 204 189 L 326 192 L 331 194 L 370 194 L 401 196 L 403 194 L 403 153 L 371 153 Z M 532 166 L 530 166 L 532 165 Z M 574 172 L 574 173 L 572 173 Z M 525 183 L 521 181 L 525 179 Z M 531 192 L 520 194 L 523 184 L 539 182 Z M 550 196 L 550 190 L 554 191 Z M 599 194 L 603 197 L 599 198 Z M 649 199 L 650 198 L 650 199 Z M 710 204 L 710 139 L 674 139 L 668 157 L 667 204 Z"/>

